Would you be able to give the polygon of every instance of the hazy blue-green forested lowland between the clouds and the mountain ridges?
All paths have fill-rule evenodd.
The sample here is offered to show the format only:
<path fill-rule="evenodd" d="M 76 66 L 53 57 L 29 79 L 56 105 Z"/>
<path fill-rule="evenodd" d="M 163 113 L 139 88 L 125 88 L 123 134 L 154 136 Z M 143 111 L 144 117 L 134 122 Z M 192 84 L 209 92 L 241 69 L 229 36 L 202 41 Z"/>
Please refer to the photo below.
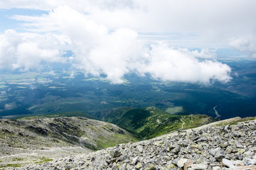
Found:
<path fill-rule="evenodd" d="M 0 118 L 67 112 L 94 115 L 113 108 L 148 106 L 175 115 L 210 116 L 215 116 L 213 107 L 218 106 L 216 109 L 222 119 L 255 116 L 255 62 L 229 64 L 233 72 L 241 76 L 233 77 L 228 84 L 215 82 L 209 86 L 157 81 L 136 75 L 125 75 L 124 84 L 110 84 L 105 75 L 85 78 L 84 72 L 75 74 L 73 79 L 70 79 L 70 72 L 65 71 L 56 71 L 55 75 L 47 72 L 2 74 Z M 15 103 L 16 107 L 6 109 L 8 103 Z"/>

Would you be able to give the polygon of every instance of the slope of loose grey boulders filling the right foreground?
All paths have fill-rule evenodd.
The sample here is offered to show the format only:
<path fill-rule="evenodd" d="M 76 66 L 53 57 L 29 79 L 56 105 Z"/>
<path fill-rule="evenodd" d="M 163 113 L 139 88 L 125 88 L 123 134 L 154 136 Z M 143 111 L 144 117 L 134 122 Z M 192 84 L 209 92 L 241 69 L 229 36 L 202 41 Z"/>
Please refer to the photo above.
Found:
<path fill-rule="evenodd" d="M 256 169 L 256 121 L 220 123 L 10 169 Z"/>

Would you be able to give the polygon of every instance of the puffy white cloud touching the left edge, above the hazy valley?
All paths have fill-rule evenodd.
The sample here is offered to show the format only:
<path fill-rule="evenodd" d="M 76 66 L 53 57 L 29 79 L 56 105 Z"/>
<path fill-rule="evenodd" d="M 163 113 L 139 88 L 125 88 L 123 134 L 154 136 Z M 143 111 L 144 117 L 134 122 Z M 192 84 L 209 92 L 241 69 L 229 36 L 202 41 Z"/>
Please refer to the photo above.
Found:
<path fill-rule="evenodd" d="M 0 35 L 0 69 L 28 71 L 40 69 L 42 62 L 65 62 L 58 49 L 44 45 L 46 35 L 30 37 L 15 30 L 6 30 Z"/>

